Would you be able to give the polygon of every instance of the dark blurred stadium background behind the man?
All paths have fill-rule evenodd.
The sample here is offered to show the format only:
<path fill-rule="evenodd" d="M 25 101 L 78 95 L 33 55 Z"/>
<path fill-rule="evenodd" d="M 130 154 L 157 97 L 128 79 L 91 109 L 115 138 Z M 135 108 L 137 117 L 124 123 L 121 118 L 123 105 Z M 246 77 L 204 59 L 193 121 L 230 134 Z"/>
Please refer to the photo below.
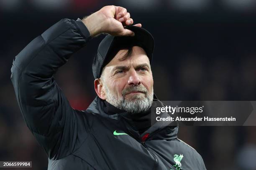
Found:
<path fill-rule="evenodd" d="M 17 105 L 13 58 L 62 18 L 76 20 L 105 5 L 127 8 L 154 36 L 160 100 L 256 100 L 255 0 L 0 0 L 1 161 L 33 161 L 34 170 L 48 164 Z M 93 38 L 55 75 L 76 109 L 85 110 L 96 96 L 91 63 L 103 37 Z M 207 170 L 256 170 L 256 127 L 187 126 L 178 137 L 202 155 Z"/>

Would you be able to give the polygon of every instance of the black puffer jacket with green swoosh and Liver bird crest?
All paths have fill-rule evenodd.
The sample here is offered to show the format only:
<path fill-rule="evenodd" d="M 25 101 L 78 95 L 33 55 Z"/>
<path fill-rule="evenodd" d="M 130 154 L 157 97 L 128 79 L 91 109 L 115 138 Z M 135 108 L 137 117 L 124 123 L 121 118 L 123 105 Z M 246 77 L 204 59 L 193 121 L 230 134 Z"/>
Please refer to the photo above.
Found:
<path fill-rule="evenodd" d="M 108 115 L 100 98 L 73 109 L 53 74 L 90 40 L 80 21 L 63 19 L 13 61 L 11 80 L 24 120 L 49 157 L 49 170 L 205 170 L 177 139 L 178 127 L 155 123 L 143 134 L 126 112 Z"/>

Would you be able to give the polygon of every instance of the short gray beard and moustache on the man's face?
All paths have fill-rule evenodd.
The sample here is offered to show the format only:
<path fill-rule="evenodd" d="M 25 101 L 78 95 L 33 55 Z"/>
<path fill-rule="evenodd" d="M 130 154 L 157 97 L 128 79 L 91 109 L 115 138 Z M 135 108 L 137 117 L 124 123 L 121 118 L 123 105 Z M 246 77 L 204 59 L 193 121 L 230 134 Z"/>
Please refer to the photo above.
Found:
<path fill-rule="evenodd" d="M 123 90 L 121 98 L 115 97 L 110 92 L 107 85 L 105 85 L 105 90 L 107 102 L 118 109 L 125 110 L 131 114 L 146 112 L 151 107 L 154 97 L 154 90 L 152 89 L 151 94 L 148 94 L 146 87 L 143 85 L 130 86 L 129 88 Z M 124 95 L 130 91 L 142 91 L 144 94 L 139 94 L 133 96 L 132 98 L 125 99 Z"/>

